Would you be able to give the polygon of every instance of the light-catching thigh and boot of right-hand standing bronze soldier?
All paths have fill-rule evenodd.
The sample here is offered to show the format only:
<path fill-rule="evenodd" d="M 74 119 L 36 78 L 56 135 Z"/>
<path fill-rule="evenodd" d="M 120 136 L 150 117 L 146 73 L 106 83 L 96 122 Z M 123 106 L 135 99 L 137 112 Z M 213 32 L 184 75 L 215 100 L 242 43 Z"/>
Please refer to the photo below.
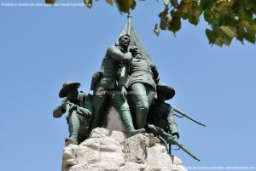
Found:
<path fill-rule="evenodd" d="M 148 96 L 143 83 L 131 85 L 131 100 L 136 104 L 136 127 L 144 128 L 148 115 Z"/>

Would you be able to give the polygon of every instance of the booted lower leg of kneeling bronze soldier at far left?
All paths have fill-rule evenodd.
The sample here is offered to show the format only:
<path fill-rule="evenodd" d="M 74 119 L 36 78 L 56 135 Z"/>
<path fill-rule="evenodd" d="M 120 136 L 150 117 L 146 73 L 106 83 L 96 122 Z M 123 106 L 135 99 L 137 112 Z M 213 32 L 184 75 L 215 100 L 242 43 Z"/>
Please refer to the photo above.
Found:
<path fill-rule="evenodd" d="M 67 141 L 67 143 L 70 144 L 78 144 L 79 128 L 79 117 L 77 116 L 77 113 L 73 111 L 73 113 L 68 118 L 69 138 L 65 140 L 65 142 Z"/>

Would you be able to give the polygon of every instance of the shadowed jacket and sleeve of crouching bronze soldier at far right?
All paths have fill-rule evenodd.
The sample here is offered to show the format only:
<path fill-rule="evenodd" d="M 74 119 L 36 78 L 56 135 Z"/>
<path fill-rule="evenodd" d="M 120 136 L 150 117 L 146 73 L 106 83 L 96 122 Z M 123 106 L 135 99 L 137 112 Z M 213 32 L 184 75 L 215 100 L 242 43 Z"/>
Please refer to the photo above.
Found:
<path fill-rule="evenodd" d="M 172 135 L 178 135 L 177 123 L 174 121 L 174 110 L 167 103 L 154 103 L 148 111 L 147 123 L 165 129 Z"/>

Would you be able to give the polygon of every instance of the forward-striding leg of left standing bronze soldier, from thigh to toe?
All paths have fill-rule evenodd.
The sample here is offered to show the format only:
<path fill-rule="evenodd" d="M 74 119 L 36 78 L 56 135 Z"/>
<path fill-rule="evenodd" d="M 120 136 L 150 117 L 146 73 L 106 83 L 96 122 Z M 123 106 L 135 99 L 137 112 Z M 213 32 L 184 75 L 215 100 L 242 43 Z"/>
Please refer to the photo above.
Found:
<path fill-rule="evenodd" d="M 124 123 L 125 130 L 127 133 L 127 136 L 130 137 L 134 134 L 140 134 L 145 133 L 145 129 L 135 129 L 132 118 L 131 118 L 131 112 L 129 105 L 127 103 L 127 100 L 123 100 L 120 94 L 114 94 L 113 98 L 111 98 L 113 102 L 114 108 L 119 111 L 119 115 L 121 117 L 122 122 Z"/>

